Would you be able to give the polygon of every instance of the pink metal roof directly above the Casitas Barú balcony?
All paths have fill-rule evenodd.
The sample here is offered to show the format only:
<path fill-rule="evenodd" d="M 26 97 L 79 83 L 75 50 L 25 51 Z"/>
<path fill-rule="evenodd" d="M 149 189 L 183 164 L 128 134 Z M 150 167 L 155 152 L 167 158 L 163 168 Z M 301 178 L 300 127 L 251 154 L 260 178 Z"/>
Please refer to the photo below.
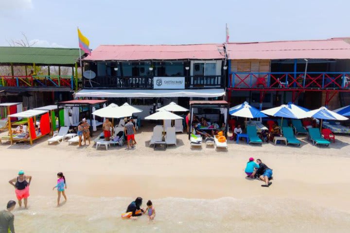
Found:
<path fill-rule="evenodd" d="M 220 51 L 219 51 L 220 50 Z M 224 59 L 223 44 L 100 45 L 85 61 Z"/>

